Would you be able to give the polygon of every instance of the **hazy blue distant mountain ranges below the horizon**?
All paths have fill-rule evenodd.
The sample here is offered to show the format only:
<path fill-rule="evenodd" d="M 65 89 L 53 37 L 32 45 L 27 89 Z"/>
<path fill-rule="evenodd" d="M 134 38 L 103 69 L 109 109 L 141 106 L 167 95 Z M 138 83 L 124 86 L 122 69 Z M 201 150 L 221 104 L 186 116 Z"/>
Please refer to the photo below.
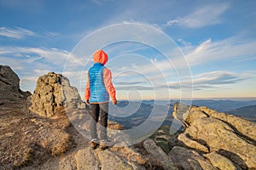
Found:
<path fill-rule="evenodd" d="M 163 125 L 170 125 L 173 121 L 173 105 L 178 100 L 143 100 L 143 101 L 119 101 L 116 106 L 110 105 L 109 119 L 119 122 L 126 129 L 137 127 L 147 120 L 152 111 L 157 110 L 158 116 L 165 116 Z M 189 103 L 189 101 L 184 101 Z M 207 106 L 208 108 L 225 112 L 235 116 L 241 116 L 247 120 L 256 122 L 256 100 L 211 100 L 200 99 L 192 101 L 192 105 Z"/>

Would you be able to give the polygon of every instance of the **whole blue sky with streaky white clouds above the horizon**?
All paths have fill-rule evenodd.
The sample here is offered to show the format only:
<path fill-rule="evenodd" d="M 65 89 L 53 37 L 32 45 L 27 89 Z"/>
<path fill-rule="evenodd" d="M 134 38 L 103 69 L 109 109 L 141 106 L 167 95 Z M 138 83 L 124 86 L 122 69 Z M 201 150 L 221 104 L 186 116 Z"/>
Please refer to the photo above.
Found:
<path fill-rule="evenodd" d="M 191 80 L 193 98 L 253 98 L 255 7 L 253 0 L 0 0 L 0 64 L 15 70 L 22 90 L 33 92 L 39 76 L 55 71 L 68 77 L 84 96 L 92 49 L 102 39 L 137 33 L 129 28 L 135 24 L 147 27 L 147 33 L 172 38 L 172 44 L 165 44 L 152 32 L 144 37 L 168 48 L 175 57 L 168 62 L 170 58 L 159 48 L 145 42 L 98 47 L 108 52 L 106 66 L 113 72 L 118 99 L 179 99 L 191 90 Z M 125 27 L 119 32 L 95 33 L 117 25 Z M 87 44 L 93 35 L 95 41 Z M 184 61 L 189 72 L 183 75 Z"/>

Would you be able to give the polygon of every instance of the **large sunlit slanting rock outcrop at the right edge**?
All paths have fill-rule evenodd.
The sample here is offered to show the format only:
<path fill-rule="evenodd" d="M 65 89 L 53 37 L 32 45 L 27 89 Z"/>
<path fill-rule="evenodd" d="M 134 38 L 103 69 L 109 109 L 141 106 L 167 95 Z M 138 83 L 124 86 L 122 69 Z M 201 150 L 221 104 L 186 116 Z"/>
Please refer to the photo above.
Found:
<path fill-rule="evenodd" d="M 256 168 L 255 122 L 218 113 L 205 106 L 176 104 L 174 108 L 173 116 L 186 127 L 178 139 L 189 150 L 196 150 L 218 169 Z M 171 152 L 178 155 L 173 150 Z"/>

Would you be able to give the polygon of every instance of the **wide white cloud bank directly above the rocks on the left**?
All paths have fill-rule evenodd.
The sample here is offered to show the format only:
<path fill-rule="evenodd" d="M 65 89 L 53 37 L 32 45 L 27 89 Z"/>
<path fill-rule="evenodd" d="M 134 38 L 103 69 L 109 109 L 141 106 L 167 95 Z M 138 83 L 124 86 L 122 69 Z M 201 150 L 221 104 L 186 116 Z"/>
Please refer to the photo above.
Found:
<path fill-rule="evenodd" d="M 19 70 L 21 89 L 31 92 L 39 76 L 49 71 L 61 73 L 67 61 L 73 68 L 84 65 L 78 57 L 58 48 L 0 47 L 0 58 L 2 65 Z M 75 73 L 73 71 L 70 79 L 75 77 Z"/>

